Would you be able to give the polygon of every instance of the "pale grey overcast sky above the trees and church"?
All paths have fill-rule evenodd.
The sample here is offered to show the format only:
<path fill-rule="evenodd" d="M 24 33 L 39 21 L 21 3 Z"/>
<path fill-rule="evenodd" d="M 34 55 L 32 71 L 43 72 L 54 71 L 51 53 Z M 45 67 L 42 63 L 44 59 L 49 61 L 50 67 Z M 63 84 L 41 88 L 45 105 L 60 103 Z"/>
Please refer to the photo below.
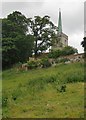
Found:
<path fill-rule="evenodd" d="M 83 52 L 81 41 L 84 38 L 84 1 L 85 0 L 0 0 L 0 18 L 13 11 L 20 11 L 26 17 L 48 15 L 58 26 L 59 8 L 62 15 L 62 31 L 68 35 L 68 45 Z"/>

